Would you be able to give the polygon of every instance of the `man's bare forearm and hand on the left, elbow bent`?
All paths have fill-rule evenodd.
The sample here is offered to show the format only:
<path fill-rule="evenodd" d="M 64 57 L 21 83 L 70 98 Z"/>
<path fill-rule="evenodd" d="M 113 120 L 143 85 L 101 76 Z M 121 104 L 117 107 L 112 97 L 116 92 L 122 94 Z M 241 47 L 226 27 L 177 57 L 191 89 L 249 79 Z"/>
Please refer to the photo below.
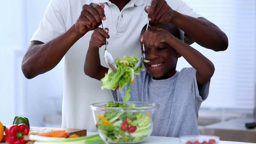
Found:
<path fill-rule="evenodd" d="M 71 46 L 90 30 L 95 30 L 105 20 L 104 5 L 84 5 L 76 23 L 64 34 L 43 43 L 32 41 L 23 60 L 22 72 L 28 79 L 52 70 Z"/>

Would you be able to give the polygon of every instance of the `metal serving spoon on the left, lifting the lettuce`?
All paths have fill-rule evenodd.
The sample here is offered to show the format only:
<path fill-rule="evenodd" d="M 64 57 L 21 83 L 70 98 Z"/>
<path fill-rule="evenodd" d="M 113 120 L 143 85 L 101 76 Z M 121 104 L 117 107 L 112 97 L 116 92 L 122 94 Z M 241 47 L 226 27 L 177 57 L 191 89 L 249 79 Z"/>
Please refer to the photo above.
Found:
<path fill-rule="evenodd" d="M 98 5 L 100 6 L 100 2 L 98 2 Z M 101 20 L 101 25 L 102 25 L 102 28 L 104 30 L 102 20 Z M 114 61 L 114 58 L 112 57 L 110 52 L 108 52 L 108 50 L 107 50 L 107 45 L 108 45 L 108 41 L 106 39 L 106 45 L 105 45 L 105 50 L 104 50 L 104 56 L 103 57 L 104 57 L 104 60 L 105 60 L 106 64 L 108 65 L 108 68 L 110 68 L 112 71 L 116 72 L 117 71 L 117 66 L 116 66 L 116 63 Z"/>

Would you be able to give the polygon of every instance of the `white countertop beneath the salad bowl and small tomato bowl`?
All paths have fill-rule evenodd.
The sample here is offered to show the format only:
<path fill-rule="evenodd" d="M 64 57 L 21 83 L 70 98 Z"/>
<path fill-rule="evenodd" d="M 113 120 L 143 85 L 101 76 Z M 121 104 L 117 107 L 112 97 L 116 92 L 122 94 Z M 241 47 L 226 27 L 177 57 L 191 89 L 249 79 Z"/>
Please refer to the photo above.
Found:
<path fill-rule="evenodd" d="M 87 136 L 97 134 L 97 132 L 87 132 Z M 172 137 L 162 137 L 162 136 L 150 136 L 142 144 L 180 144 L 179 138 Z M 248 142 L 230 142 L 230 141 L 220 141 L 219 144 L 252 144 Z"/>

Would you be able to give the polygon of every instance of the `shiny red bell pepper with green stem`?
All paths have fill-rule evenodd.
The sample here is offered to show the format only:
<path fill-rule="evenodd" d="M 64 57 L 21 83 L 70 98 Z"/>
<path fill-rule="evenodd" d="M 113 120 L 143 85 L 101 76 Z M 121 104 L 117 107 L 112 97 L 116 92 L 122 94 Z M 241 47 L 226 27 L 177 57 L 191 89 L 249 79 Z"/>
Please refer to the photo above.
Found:
<path fill-rule="evenodd" d="M 29 128 L 26 124 L 14 124 L 6 128 L 5 141 L 7 144 L 26 144 L 27 141 L 23 139 L 23 136 L 27 136 L 28 132 Z"/>

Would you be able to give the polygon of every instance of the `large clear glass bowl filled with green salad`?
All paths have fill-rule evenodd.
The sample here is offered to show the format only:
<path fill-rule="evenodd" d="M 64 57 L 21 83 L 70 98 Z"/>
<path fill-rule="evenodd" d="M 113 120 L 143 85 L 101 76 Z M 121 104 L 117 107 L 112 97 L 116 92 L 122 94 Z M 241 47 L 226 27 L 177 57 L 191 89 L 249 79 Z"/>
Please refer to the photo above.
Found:
<path fill-rule="evenodd" d="M 101 102 L 90 106 L 101 139 L 107 144 L 135 144 L 148 138 L 159 105 L 150 102 Z"/>

